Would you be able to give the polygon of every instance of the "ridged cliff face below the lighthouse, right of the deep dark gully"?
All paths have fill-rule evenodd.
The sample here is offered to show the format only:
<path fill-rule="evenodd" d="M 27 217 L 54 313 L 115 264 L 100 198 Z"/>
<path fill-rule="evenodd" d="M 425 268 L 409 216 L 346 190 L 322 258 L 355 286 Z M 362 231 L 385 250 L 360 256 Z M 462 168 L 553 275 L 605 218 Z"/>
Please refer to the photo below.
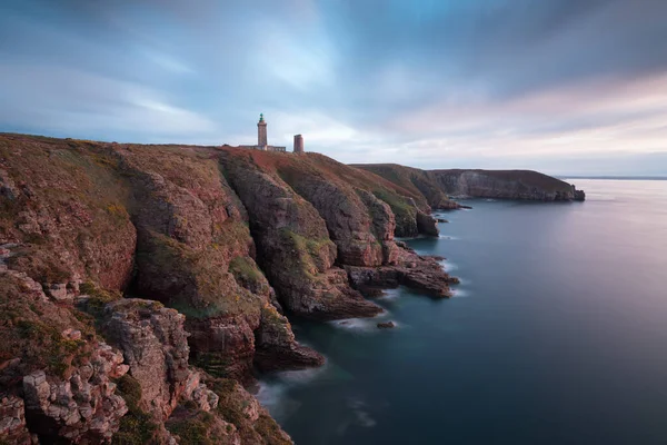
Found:
<path fill-rule="evenodd" d="M 320 155 L 229 149 L 222 165 L 250 214 L 258 261 L 289 310 L 323 319 L 375 315 L 381 309 L 358 291 L 371 280 L 448 295 L 449 277 L 439 267 L 428 268 L 432 286 L 379 278 L 389 270 L 395 277 L 414 276 L 409 268 L 429 261 L 394 240 L 396 217 L 387 201 L 411 209 L 404 216 L 410 215 L 422 233 L 437 235 L 435 220 L 419 219 L 411 198 Z"/>

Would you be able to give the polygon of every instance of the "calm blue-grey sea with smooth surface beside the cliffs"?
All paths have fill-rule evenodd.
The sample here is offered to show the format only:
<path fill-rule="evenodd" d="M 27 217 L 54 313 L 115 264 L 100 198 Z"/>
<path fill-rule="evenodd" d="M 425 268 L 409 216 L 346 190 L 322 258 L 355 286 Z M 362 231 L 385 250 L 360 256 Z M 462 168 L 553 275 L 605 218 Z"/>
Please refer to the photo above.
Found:
<path fill-rule="evenodd" d="M 469 201 L 439 239 L 462 284 L 378 319 L 296 324 L 328 358 L 259 394 L 297 444 L 666 444 L 667 181 L 586 202 Z"/>

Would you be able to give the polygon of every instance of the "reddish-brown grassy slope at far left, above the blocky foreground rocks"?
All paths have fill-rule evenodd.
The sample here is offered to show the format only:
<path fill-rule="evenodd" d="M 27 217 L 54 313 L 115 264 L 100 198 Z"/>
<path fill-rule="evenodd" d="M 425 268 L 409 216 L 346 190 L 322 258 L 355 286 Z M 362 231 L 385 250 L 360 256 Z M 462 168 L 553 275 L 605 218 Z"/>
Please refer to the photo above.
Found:
<path fill-rule="evenodd" d="M 100 142 L 0 135 L 0 159 L 21 190 L 16 200 L 3 200 L 0 237 L 31 249 L 29 257 L 12 258 L 12 267 L 42 283 L 66 283 L 72 269 L 86 266 L 102 270 L 89 278 L 104 278 L 109 265 L 91 251 L 112 249 L 131 228 L 122 212 L 130 192 L 118 157 Z M 67 261 L 56 255 L 62 246 Z"/>

